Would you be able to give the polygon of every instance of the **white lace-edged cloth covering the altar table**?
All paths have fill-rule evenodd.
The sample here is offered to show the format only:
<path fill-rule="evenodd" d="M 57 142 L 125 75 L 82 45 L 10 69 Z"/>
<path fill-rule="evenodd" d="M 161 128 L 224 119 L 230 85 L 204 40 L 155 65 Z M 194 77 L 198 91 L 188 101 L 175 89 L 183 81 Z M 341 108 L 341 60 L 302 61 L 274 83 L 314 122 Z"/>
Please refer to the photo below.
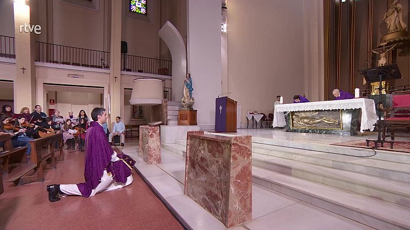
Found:
<path fill-rule="evenodd" d="M 377 122 L 376 106 L 373 99 L 367 98 L 276 105 L 272 127 L 286 125 L 283 112 L 359 108 L 362 109 L 360 132 L 365 129 L 373 131 L 373 125 Z"/>

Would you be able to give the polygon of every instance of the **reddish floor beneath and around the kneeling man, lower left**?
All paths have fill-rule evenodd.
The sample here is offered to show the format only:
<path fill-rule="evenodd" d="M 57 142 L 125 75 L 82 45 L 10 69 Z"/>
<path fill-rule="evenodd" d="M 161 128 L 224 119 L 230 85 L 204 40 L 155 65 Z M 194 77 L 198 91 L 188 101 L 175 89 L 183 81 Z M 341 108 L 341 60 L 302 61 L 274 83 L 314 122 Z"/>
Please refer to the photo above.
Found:
<path fill-rule="evenodd" d="M 84 152 L 66 152 L 44 183 L 8 187 L 0 195 L 0 229 L 182 229 L 165 205 L 133 173 L 125 188 L 90 198 L 48 201 L 46 185 L 84 181 Z"/>

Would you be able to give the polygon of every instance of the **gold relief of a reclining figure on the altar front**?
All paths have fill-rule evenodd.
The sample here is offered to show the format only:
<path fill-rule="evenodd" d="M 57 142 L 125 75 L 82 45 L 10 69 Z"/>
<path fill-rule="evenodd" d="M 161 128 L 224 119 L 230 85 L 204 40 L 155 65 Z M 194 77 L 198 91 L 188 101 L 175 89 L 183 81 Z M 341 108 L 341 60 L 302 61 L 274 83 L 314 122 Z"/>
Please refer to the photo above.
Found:
<path fill-rule="evenodd" d="M 315 110 L 291 112 L 294 129 L 343 129 L 342 110 Z"/>

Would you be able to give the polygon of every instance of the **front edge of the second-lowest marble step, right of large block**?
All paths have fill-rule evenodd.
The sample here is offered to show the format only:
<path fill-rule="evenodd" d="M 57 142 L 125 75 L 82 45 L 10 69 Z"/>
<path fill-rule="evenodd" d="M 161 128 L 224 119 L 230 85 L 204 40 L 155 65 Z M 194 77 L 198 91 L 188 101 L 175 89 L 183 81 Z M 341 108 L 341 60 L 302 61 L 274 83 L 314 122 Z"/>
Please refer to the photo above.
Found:
<path fill-rule="evenodd" d="M 306 164 L 309 164 L 309 163 L 306 163 Z M 324 173 L 308 171 L 306 169 L 301 169 L 301 168 L 288 165 L 288 164 L 284 165 L 284 164 L 277 163 L 277 162 L 267 162 L 265 160 L 260 160 L 260 159 L 255 159 L 255 158 L 253 158 L 252 165 L 259 167 L 259 168 L 267 169 L 270 171 L 275 171 L 275 172 L 279 172 L 282 174 L 302 178 L 305 180 L 314 181 L 322 185 L 355 192 L 358 194 L 362 194 L 365 196 L 373 197 L 373 198 L 384 200 L 384 201 L 391 202 L 391 203 L 396 203 L 398 205 L 402 205 L 402 206 L 406 206 L 410 208 L 410 193 L 375 185 L 370 182 L 363 182 L 363 181 L 355 180 L 353 179 L 353 177 L 347 178 L 347 177 L 341 177 L 338 175 L 330 174 L 329 169 L 332 169 L 332 168 L 328 168 L 327 172 L 329 174 L 324 174 Z M 269 168 L 269 166 L 273 166 L 273 167 Z M 277 170 L 273 169 L 277 167 L 279 168 L 281 167 L 284 170 L 278 171 L 278 169 Z M 322 166 L 316 165 L 315 167 L 322 167 Z M 286 173 L 285 169 L 289 169 L 289 168 L 292 169 L 292 172 Z M 332 169 L 332 170 L 338 170 L 338 169 Z M 342 171 L 342 170 L 338 170 L 338 171 Z M 370 175 L 365 175 L 365 176 L 373 177 L 374 179 L 379 178 L 379 177 L 370 176 Z M 380 178 L 380 179 L 388 180 L 384 178 Z M 399 181 L 392 181 L 392 182 L 399 182 Z M 408 186 L 410 186 L 410 183 L 408 182 L 401 182 L 401 183 L 403 185 L 408 184 Z"/>

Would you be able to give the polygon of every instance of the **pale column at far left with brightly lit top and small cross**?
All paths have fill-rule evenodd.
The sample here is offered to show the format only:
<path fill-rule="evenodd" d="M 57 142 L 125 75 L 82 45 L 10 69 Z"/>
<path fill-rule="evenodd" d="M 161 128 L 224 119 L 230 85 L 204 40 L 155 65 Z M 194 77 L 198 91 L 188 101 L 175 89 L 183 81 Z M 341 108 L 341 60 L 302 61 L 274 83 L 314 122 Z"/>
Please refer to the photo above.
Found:
<path fill-rule="evenodd" d="M 31 0 L 32 1 L 32 0 Z M 31 2 L 30 1 L 30 2 Z M 35 3 L 35 2 L 33 2 Z M 34 65 L 34 32 L 35 25 L 30 24 L 29 1 L 14 1 L 14 32 L 16 54 L 16 77 L 14 80 L 14 110 L 22 107 L 33 108 L 36 104 L 35 65 Z"/>

